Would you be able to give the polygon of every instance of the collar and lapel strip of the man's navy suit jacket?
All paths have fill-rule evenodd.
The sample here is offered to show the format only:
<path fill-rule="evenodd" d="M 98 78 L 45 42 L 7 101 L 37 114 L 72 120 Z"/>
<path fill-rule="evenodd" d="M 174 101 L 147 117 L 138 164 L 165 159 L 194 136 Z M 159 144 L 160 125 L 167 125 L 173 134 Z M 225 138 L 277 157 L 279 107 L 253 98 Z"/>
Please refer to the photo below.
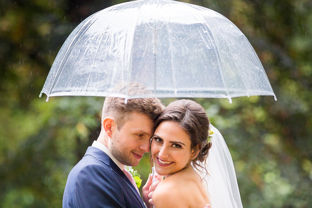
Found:
<path fill-rule="evenodd" d="M 110 157 L 105 152 L 103 152 L 102 150 L 100 150 L 96 147 L 88 147 L 87 151 L 85 152 L 85 156 L 86 155 L 91 155 L 91 156 L 95 157 L 96 159 L 100 160 L 101 162 L 105 163 L 106 165 L 108 165 L 110 167 L 110 169 L 113 172 L 115 172 L 115 174 L 119 178 L 121 178 L 125 182 L 125 184 L 131 189 L 131 191 L 134 193 L 134 195 L 136 196 L 136 198 L 140 202 L 141 206 L 145 207 L 145 205 L 143 204 L 143 201 L 141 199 L 140 194 L 135 189 L 135 187 L 133 186 L 131 181 L 127 178 L 127 176 L 124 174 L 124 172 L 122 172 L 122 170 L 120 170 L 120 168 L 115 164 L 115 162 L 112 159 L 110 159 Z"/>

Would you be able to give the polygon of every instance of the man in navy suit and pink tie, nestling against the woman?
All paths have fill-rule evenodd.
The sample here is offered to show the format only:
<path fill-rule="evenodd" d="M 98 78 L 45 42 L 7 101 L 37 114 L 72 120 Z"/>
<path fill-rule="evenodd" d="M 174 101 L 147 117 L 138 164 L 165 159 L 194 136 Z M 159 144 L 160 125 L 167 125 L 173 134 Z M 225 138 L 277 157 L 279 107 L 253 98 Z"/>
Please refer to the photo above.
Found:
<path fill-rule="evenodd" d="M 129 95 L 146 93 L 150 91 L 142 84 L 129 86 Z M 63 207 L 145 207 L 125 165 L 137 166 L 149 152 L 154 122 L 163 108 L 157 98 L 129 99 L 124 104 L 122 98 L 106 97 L 100 135 L 69 173 Z M 142 190 L 147 205 L 149 192 L 148 184 Z"/>

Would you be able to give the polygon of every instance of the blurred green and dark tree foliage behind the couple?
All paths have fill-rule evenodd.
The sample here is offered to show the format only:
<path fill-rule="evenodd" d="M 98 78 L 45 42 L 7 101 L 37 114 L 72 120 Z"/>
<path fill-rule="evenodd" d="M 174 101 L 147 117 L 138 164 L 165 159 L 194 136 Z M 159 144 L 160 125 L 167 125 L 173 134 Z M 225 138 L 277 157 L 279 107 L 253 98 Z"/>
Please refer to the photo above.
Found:
<path fill-rule="evenodd" d="M 104 98 L 45 102 L 38 95 L 71 31 L 121 2 L 0 2 L 0 207 L 61 207 L 68 173 L 100 133 Z M 312 207 L 312 2 L 183 2 L 215 10 L 240 28 L 278 99 L 195 99 L 227 142 L 243 206 Z M 146 154 L 135 167 L 144 183 L 147 161 Z"/>

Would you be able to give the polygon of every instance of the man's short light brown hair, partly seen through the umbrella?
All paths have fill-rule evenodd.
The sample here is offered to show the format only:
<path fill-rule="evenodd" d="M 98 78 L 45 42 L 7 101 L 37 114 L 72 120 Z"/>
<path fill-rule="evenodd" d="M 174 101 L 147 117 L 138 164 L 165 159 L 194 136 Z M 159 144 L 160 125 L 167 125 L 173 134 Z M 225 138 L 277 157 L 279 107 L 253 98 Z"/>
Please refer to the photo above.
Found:
<path fill-rule="evenodd" d="M 113 92 L 124 93 L 126 88 L 126 84 L 120 83 L 115 86 Z M 141 83 L 131 82 L 128 87 L 128 95 L 134 94 L 152 94 L 152 92 Z M 147 115 L 155 123 L 163 109 L 164 104 L 158 98 L 129 99 L 128 103 L 124 104 L 124 98 L 106 97 L 103 104 L 101 121 L 103 123 L 106 117 L 112 117 L 119 129 L 129 119 L 129 114 L 136 112 Z"/>

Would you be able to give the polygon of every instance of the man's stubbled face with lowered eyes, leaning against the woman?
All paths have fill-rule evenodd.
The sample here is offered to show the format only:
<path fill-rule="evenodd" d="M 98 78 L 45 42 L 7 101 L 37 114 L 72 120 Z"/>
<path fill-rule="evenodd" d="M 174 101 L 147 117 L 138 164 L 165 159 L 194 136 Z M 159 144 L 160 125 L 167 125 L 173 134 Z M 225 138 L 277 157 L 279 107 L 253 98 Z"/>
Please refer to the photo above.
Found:
<path fill-rule="evenodd" d="M 121 128 L 112 131 L 110 152 L 122 164 L 137 166 L 145 152 L 149 152 L 154 122 L 147 115 L 133 112 Z"/>

